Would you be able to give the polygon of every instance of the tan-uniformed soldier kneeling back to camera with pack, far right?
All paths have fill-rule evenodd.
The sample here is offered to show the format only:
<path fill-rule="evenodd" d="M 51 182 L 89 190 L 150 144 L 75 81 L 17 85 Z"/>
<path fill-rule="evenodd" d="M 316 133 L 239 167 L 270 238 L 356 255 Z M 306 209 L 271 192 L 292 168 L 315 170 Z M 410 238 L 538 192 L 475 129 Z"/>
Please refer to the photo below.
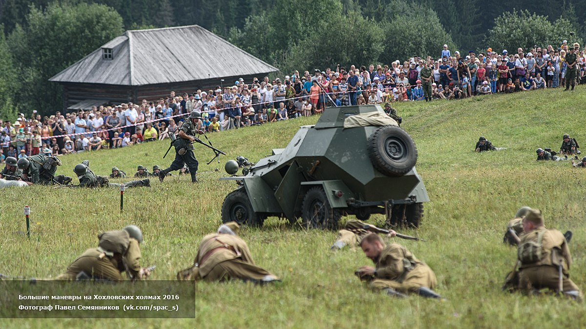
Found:
<path fill-rule="evenodd" d="M 523 218 L 524 234 L 517 249 L 519 289 L 523 293 L 543 288 L 581 299 L 578 286 L 570 280 L 572 258 L 564 235 L 547 229 L 541 211 L 532 209 Z"/>

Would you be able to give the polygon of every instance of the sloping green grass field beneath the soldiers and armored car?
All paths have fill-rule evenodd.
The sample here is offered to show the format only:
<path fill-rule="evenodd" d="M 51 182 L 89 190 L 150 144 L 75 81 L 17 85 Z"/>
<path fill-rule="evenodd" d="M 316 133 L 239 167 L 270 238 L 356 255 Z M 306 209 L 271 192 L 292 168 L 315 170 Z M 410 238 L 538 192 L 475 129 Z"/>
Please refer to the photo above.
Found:
<path fill-rule="evenodd" d="M 427 242 L 403 241 L 434 269 L 437 291 L 445 302 L 412 296 L 405 300 L 374 294 L 353 271 L 370 265 L 360 250 L 329 251 L 336 233 L 291 228 L 269 218 L 263 229 L 244 228 L 255 262 L 282 278 L 282 285 L 256 287 L 243 283 L 197 283 L 196 314 L 161 319 L 0 319 L 0 328 L 138 327 L 141 328 L 579 328 L 586 323 L 584 305 L 543 296 L 526 298 L 500 291 L 512 268 L 516 249 L 502 244 L 505 225 L 522 205 L 540 208 L 546 226 L 572 229 L 571 278 L 586 284 L 586 171 L 568 162 L 536 162 L 535 149 L 558 149 L 570 133 L 586 145 L 578 118 L 586 109 L 584 88 L 574 93 L 547 90 L 476 97 L 463 101 L 398 104 L 403 128 L 417 143 L 418 173 L 431 202 L 415 232 Z M 229 155 L 205 165 L 213 154 L 196 146 L 199 184 L 189 176 L 173 176 L 150 188 L 129 189 L 124 213 L 114 189 L 76 190 L 33 186 L 2 190 L 0 201 L 0 272 L 26 277 L 54 277 L 80 253 L 95 246 L 99 232 L 137 224 L 145 235 L 142 263 L 155 264 L 155 280 L 172 280 L 193 262 L 203 235 L 220 224 L 220 207 L 236 188 L 225 176 L 228 158 L 247 156 L 255 162 L 282 148 L 300 125 L 316 118 L 245 128 L 210 135 Z M 507 150 L 478 154 L 480 135 Z M 90 160 L 97 174 L 118 166 L 130 176 L 137 165 L 168 166 L 162 160 L 168 142 L 63 157 L 57 173 L 73 176 L 73 166 Z M 215 172 L 214 169 L 219 169 Z M 74 179 L 77 183 L 77 180 Z M 32 210 L 32 237 L 25 231 L 24 205 Z M 370 222 L 382 225 L 382 215 Z"/>

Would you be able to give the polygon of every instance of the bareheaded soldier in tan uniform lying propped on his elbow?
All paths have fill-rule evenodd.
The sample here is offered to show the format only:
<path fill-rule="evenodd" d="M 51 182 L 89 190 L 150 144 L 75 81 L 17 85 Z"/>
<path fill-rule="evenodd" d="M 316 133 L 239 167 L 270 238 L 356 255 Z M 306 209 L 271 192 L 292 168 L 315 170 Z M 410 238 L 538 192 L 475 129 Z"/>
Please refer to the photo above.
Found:
<path fill-rule="evenodd" d="M 442 299 L 433 290 L 437 279 L 431 268 L 419 261 L 402 245 L 386 246 L 379 235 L 371 233 L 360 241 L 364 254 L 376 268 L 362 266 L 356 271 L 360 280 L 370 282 L 374 291 L 383 290 L 389 296 L 406 297 L 407 293 Z"/>

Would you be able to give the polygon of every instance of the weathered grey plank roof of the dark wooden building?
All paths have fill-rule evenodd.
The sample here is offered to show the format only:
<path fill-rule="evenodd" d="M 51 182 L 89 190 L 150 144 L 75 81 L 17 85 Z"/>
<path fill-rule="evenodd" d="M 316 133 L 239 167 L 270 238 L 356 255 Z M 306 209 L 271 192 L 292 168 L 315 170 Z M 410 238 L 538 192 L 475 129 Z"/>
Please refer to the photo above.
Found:
<path fill-rule="evenodd" d="M 104 59 L 103 49 L 111 49 L 111 59 Z M 190 25 L 128 30 L 49 81 L 138 86 L 275 71 L 222 37 Z"/>

